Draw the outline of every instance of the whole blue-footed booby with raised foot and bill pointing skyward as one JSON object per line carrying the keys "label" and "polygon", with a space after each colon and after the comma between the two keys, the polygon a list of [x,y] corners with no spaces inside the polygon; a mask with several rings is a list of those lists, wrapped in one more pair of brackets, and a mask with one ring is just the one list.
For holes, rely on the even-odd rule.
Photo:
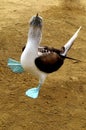
{"label": "whole blue-footed booby with raised foot and bill pointing skyward", "polygon": [[8,67],[10,67],[13,72],[18,73],[26,71],[38,78],[39,83],[37,87],[30,88],[25,92],[26,96],[35,99],[39,96],[40,89],[46,77],[50,73],[57,71],[64,64],[66,58],[77,60],[68,57],[67,52],[77,38],[81,27],[79,27],[61,49],[57,49],[54,47],[40,46],[42,40],[43,19],[38,13],[31,17],[29,26],[28,39],[26,45],[22,49],[20,62],[9,58]]}

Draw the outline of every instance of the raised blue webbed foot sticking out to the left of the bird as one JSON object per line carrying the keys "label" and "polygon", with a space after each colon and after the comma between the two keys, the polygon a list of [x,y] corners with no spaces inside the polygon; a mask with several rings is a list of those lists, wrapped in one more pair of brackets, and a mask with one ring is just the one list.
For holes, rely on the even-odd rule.
{"label": "raised blue webbed foot sticking out to the left of the bird", "polygon": [[22,73],[24,72],[23,67],[21,66],[20,62],[13,60],[11,58],[8,59],[7,66],[14,72],[14,73]]}

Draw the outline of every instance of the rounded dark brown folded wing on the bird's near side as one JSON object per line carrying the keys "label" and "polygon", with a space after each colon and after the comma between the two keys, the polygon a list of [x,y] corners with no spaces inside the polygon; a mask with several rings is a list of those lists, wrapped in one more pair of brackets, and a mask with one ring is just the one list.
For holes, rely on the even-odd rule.
{"label": "rounded dark brown folded wing on the bird's near side", "polygon": [[63,64],[64,58],[62,58],[56,52],[50,52],[42,54],[35,59],[37,68],[45,73],[52,73],[58,70]]}

